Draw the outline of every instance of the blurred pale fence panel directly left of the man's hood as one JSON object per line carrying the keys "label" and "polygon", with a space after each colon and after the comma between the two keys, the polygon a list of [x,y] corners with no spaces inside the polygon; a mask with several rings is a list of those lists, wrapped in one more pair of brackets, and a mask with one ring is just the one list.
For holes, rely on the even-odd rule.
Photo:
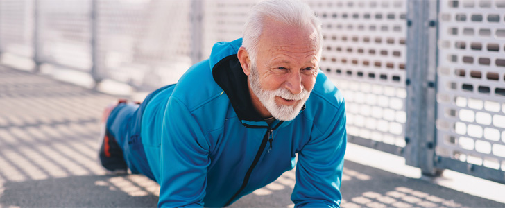
{"label": "blurred pale fence panel directly left of the man's hood", "polygon": [[190,1],[98,1],[97,66],[114,80],[153,89],[191,66]]}

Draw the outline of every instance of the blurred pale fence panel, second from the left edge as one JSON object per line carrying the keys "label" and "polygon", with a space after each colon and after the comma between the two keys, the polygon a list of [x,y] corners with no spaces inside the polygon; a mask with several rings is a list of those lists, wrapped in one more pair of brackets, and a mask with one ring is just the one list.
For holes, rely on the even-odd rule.
{"label": "blurred pale fence panel, second from the left edge", "polygon": [[92,66],[91,0],[37,0],[40,62],[83,71]]}

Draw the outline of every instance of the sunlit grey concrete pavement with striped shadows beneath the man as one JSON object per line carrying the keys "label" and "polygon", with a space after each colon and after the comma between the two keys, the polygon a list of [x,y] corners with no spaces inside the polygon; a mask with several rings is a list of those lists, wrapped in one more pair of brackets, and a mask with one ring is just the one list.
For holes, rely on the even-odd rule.
{"label": "sunlit grey concrete pavement with striped shadows beneath the man", "polygon": [[[117,98],[0,67],[0,207],[155,207],[155,182],[96,162],[101,110]],[[294,180],[286,172],[231,207],[292,207]],[[505,207],[350,160],[341,190],[342,207]]]}

